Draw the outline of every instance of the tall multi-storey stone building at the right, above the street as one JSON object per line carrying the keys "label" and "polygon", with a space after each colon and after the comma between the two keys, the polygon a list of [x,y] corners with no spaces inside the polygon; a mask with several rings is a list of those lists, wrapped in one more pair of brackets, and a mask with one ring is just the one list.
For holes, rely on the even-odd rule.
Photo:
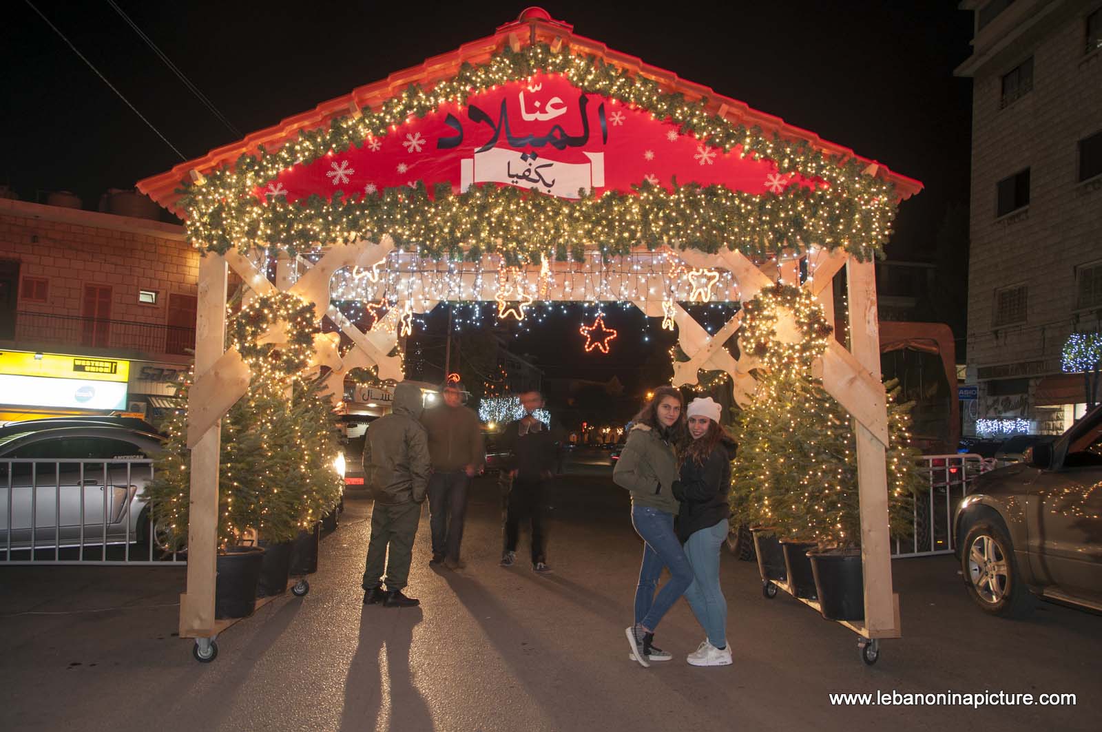
{"label": "tall multi-storey stone building at the right, above the street", "polygon": [[1080,416],[1072,333],[1102,327],[1102,2],[964,0],[975,34],[965,432]]}

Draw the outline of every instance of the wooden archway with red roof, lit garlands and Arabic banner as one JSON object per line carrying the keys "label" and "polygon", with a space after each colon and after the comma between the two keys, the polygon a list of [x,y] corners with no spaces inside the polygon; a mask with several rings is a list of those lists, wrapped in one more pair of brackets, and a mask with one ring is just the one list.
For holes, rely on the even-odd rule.
{"label": "wooden archway with red roof, lit garlands and Arabic banner", "polygon": [[[479,63],[483,65],[478,66]],[[532,71],[533,64],[542,69],[539,74]],[[605,69],[605,76],[593,80],[587,68]],[[579,80],[580,73],[586,74],[584,82]],[[562,86],[563,79],[574,86]],[[484,112],[480,114],[486,119],[468,112],[471,119],[491,128],[494,138],[479,149],[468,146],[473,157],[456,158],[454,174],[435,181],[429,175],[426,183],[451,182],[446,191],[437,185],[435,197],[424,193],[425,184],[420,189],[417,184],[407,187],[406,183],[391,180],[379,184],[380,189],[389,189],[378,193],[376,184],[368,182],[361,200],[353,205],[341,196],[332,201],[307,198],[306,194],[315,192],[318,185],[347,183],[354,169],[363,168],[365,163],[360,161],[367,160],[353,155],[368,155],[378,150],[381,144],[376,147],[376,143],[383,137],[400,141],[404,134],[401,144],[410,154],[421,152],[418,146],[424,146],[434,134],[440,150],[460,144],[453,146],[455,138],[447,136],[455,130],[462,140],[466,128],[456,112],[447,111],[455,108],[446,106],[452,104],[449,99],[477,98],[482,104],[476,94],[478,88],[483,88],[478,94],[499,94],[499,89],[507,88],[506,82],[523,85],[520,116],[525,120],[557,117],[562,112],[553,103],[563,104],[560,97],[547,101],[542,118],[531,112],[531,107],[526,112],[525,89],[534,94],[548,85],[551,89],[576,92],[576,86],[582,89],[580,99],[586,95],[606,95],[597,96],[596,100],[604,100],[598,110],[590,108],[587,112],[584,101],[579,105],[586,125],[586,140],[590,140],[586,114],[592,115],[594,128],[599,119],[605,142],[608,130],[616,129],[615,115],[623,118],[649,114],[650,120],[639,117],[641,125],[667,125],[670,129],[666,134],[671,143],[684,144],[689,153],[696,148],[693,158],[702,174],[719,174],[711,168],[713,159],[719,159],[728,166],[724,174],[731,175],[731,181],[705,181],[706,185],[682,187],[676,180],[669,185],[656,184],[648,175],[639,186],[617,187],[617,168],[612,159],[604,157],[612,153],[587,151],[584,160],[588,162],[581,158],[577,160],[583,162],[557,161],[560,165],[557,170],[563,171],[565,179],[588,176],[581,192],[554,190],[554,181],[559,179],[549,176],[545,181],[540,179],[547,187],[541,190],[545,195],[510,197],[509,186],[514,186],[515,193],[523,184],[509,166],[517,158],[508,161],[505,158],[527,150],[521,160],[530,163],[537,158],[534,149],[539,148],[544,155],[541,160],[545,160],[550,157],[547,146],[563,151],[573,144],[570,140],[581,138],[565,137],[560,126],[557,126],[559,132],[552,128],[552,132],[543,136],[509,137],[507,105],[503,100],[497,121]],[[421,86],[397,92],[409,84]],[[468,87],[475,90],[468,92]],[[433,92],[425,93],[424,88]],[[613,111],[606,110],[605,104]],[[624,106],[613,106],[617,104]],[[328,132],[320,131],[325,125]],[[436,125],[436,129],[419,125]],[[503,130],[508,146],[498,142]],[[428,137],[422,137],[422,131]],[[357,140],[363,143],[358,150],[347,152],[343,160],[339,154],[334,157],[334,151],[342,148],[347,151]],[[717,147],[709,148],[713,141]],[[260,143],[267,149],[255,155]],[[397,150],[397,146],[393,148]],[[484,153],[494,158],[479,158]],[[245,157],[230,166],[238,155]],[[652,157],[645,159],[649,162]],[[403,164],[399,163],[398,171],[406,175],[409,166]],[[768,182],[732,182],[743,180],[749,169],[758,173],[771,171]],[[520,180],[536,183],[531,173],[526,175]],[[191,186],[191,193],[183,200],[175,192],[182,179]],[[479,182],[490,185],[478,187],[475,184]],[[737,396],[739,384],[752,379],[748,372],[753,367],[745,360],[739,363],[724,348],[738,327],[739,315],[711,336],[680,303],[746,301],[778,279],[792,284],[802,280],[833,322],[832,283],[835,277],[844,277],[850,347],[832,340],[817,368],[821,368],[825,389],[856,423],[865,620],[847,625],[866,638],[900,635],[898,598],[892,591],[885,465],[888,429],[871,258],[886,239],[894,206],[920,190],[917,181],[892,173],[878,163],[734,99],[715,95],[711,89],[574,35],[568,24],[551,20],[539,9],[529,9],[517,22],[503,25],[488,39],[325,103],[238,144],[142,181],[139,187],[185,215],[192,241],[206,249],[199,266],[195,383],[188,407],[191,526],[187,591],[182,595],[180,612],[181,636],[209,638],[222,627],[214,617],[219,420],[245,392],[250,378],[240,355],[234,348],[226,348],[229,271],[255,293],[282,290],[301,295],[314,304],[317,320],[329,315],[350,338],[354,347],[344,355],[335,352],[332,342],[326,344],[325,338],[315,338],[313,365],[332,369],[329,381],[335,396],[343,391],[344,376],[357,366],[374,366],[380,378],[401,378],[401,362],[391,355],[401,317],[426,312],[440,300],[501,300],[503,297],[520,302],[634,302],[648,316],[677,324],[679,343],[689,359],[674,364],[676,383],[695,383],[700,369],[724,370],[735,383]],[[453,194],[453,189],[458,193]],[[606,193],[598,195],[602,189]],[[289,201],[289,192],[293,194],[296,190],[296,202]],[[845,205],[834,205],[838,202]],[[477,216],[464,214],[467,209],[477,212]],[[503,211],[514,213],[515,217],[521,214],[538,217],[542,224],[539,230],[548,232],[548,238],[537,243],[538,246],[528,241],[510,244],[509,237],[516,234],[507,227],[508,222],[498,219]],[[475,224],[483,226],[477,236],[471,233],[474,228],[464,229],[462,241],[430,246],[443,232],[451,234],[476,218]],[[489,228],[486,219],[494,222]],[[653,233],[655,223],[673,219],[679,222],[671,225],[679,236],[656,240],[662,236]],[[404,244],[399,246],[391,232],[400,235]],[[576,252],[560,250],[558,256],[550,256],[558,246],[555,237],[575,236],[584,239]],[[613,244],[601,237],[613,239]],[[302,249],[303,241],[320,258],[295,279],[285,262]],[[274,283],[248,256],[264,247],[282,252],[284,266],[279,268]],[[472,256],[474,248],[480,250],[479,256]],[[549,254],[544,256],[541,251]],[[634,257],[649,257],[650,267],[640,269],[637,262],[633,263]],[[587,279],[585,268],[592,265],[583,265],[583,258],[609,263],[608,271],[598,274],[598,284],[587,284],[593,278]],[[434,283],[431,277],[426,280],[423,274],[403,274],[439,269],[442,260],[452,262],[445,286]],[[800,276],[801,265],[810,277]],[[388,297],[389,309],[381,327],[376,324],[363,332],[331,305],[334,276],[380,270],[395,273],[400,288],[389,293],[381,290],[370,293],[372,298]],[[508,270],[511,283],[503,279],[504,270]],[[497,276],[485,277],[488,271],[496,271]],[[721,279],[724,284],[696,288],[689,279],[692,274],[687,272],[709,272],[712,284]]]}

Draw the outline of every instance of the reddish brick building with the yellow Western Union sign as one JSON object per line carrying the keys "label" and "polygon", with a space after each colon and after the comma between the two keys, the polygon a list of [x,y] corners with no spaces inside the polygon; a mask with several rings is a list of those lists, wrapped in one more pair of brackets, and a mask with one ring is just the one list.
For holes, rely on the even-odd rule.
{"label": "reddish brick building with the yellow Western Union sign", "polygon": [[198,259],[179,225],[0,198],[0,422],[172,408]]}

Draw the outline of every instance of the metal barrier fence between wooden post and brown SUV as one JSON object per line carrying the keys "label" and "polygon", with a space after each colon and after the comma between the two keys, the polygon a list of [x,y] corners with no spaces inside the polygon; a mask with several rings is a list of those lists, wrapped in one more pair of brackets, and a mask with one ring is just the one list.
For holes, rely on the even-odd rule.
{"label": "metal barrier fence between wooden post and brown SUV", "polygon": [[895,539],[893,557],[929,557],[954,550],[953,512],[972,489],[972,482],[995,469],[995,461],[975,454],[922,455],[919,459],[929,489],[915,502],[914,530]]}

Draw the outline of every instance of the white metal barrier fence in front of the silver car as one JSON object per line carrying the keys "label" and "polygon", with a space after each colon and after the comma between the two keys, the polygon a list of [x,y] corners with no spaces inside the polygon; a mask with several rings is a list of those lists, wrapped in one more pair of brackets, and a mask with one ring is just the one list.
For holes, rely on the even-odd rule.
{"label": "white metal barrier fence in front of the silver car", "polygon": [[145,508],[153,461],[0,460],[0,564],[183,563]]}

